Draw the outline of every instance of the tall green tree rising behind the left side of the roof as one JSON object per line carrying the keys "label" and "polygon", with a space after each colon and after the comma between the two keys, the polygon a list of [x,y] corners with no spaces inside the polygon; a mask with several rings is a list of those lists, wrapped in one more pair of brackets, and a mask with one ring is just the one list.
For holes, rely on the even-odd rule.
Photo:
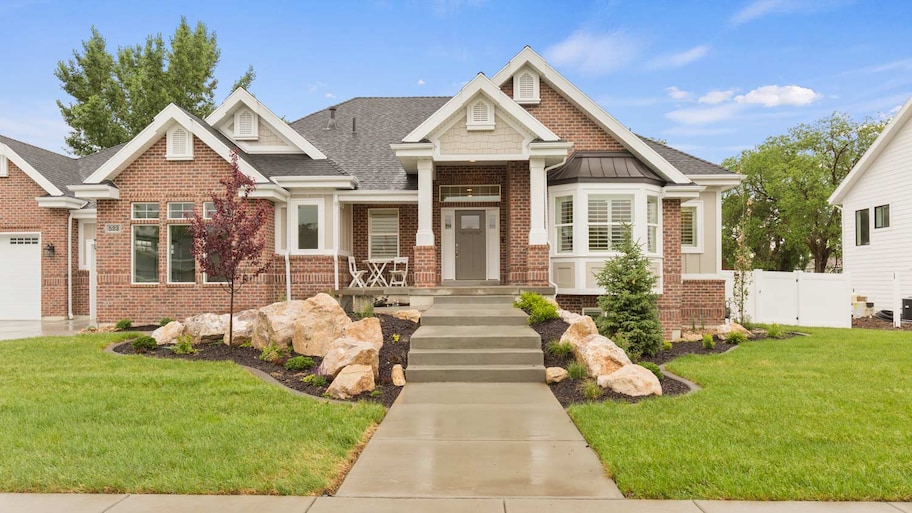
{"label": "tall green tree rising behind the left side of the roof", "polygon": [[[108,51],[104,37],[92,35],[74,50],[73,58],[57,63],[54,75],[72,101],[57,101],[72,131],[66,143],[72,153],[88,155],[129,141],[158,112],[175,103],[197,116],[214,105],[215,67],[220,50],[214,32],[202,22],[192,28],[181,18],[166,46],[161,34],[144,44]],[[248,87],[255,74],[247,69],[231,90]]]}

